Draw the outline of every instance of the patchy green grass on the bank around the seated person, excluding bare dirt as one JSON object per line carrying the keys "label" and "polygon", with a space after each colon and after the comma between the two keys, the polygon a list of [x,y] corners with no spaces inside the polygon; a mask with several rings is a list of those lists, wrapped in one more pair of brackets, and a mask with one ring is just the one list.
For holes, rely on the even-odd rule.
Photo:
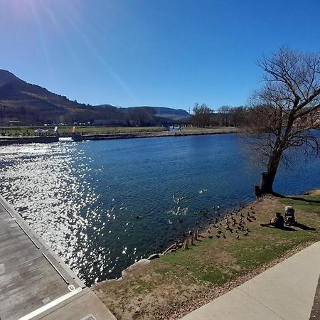
{"label": "patchy green grass on the bank around the seated person, excluding bare dirt", "polygon": [[[269,220],[284,206],[294,206],[299,223],[312,226],[316,231],[286,231],[262,228],[261,222]],[[267,216],[267,214],[269,216]],[[181,249],[154,262],[156,272],[169,277],[187,277],[193,281],[223,284],[240,274],[282,257],[285,252],[304,242],[320,240],[320,196],[304,196],[294,200],[279,198],[279,203],[270,213],[260,213],[260,219],[249,225],[250,236],[235,240],[227,235],[227,240],[214,238],[196,242],[195,247]]]}

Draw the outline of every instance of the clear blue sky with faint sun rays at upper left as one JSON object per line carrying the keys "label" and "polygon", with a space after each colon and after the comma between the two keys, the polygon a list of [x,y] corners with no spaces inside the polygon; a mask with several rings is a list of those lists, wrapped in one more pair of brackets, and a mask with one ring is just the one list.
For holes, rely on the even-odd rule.
{"label": "clear blue sky with faint sun rays at upper left", "polygon": [[320,51],[319,0],[0,0],[0,68],[92,105],[242,105],[282,45]]}

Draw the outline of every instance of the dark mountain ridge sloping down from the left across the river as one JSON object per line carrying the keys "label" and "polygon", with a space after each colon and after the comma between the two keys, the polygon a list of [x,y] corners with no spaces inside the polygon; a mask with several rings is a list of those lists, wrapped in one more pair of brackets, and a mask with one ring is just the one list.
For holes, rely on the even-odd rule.
{"label": "dark mountain ridge sloping down from the left across the river", "polygon": [[[73,123],[95,122],[96,119],[112,121],[119,124],[131,124],[130,116],[142,110],[150,117],[157,116],[169,119],[188,117],[185,110],[175,110],[166,107],[119,108],[112,105],[85,105],[76,100],[71,101],[64,95],[57,95],[39,85],[25,82],[13,73],[0,69],[0,122],[18,120],[21,124],[35,123]],[[154,111],[156,110],[156,111]],[[158,113],[157,113],[158,112]],[[103,121],[102,121],[103,122]],[[139,121],[140,122],[140,121]],[[151,123],[151,122],[150,122]]]}

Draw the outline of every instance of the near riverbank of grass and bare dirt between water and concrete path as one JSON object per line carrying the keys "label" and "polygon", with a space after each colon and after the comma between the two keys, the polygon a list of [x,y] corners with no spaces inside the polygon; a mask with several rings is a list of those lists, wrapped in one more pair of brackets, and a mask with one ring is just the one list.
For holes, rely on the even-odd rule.
{"label": "near riverbank of grass and bare dirt between water and concrete path", "polygon": [[[283,213],[288,205],[296,209],[300,228],[260,226],[275,212]],[[245,218],[249,233],[236,233],[238,224],[231,227],[231,233],[222,223],[220,238],[211,228],[187,250],[152,260],[120,281],[96,284],[95,293],[117,319],[178,319],[293,253],[294,248],[320,240],[320,191],[290,198],[262,198],[242,210],[245,217],[248,212],[255,217],[251,221]],[[239,222],[240,215],[234,217]],[[311,228],[315,230],[308,230]]]}

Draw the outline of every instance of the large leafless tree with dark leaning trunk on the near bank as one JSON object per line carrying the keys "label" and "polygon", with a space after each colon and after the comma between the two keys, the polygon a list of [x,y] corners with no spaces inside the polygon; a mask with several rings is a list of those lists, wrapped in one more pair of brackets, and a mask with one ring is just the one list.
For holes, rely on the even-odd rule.
{"label": "large leafless tree with dark leaning trunk on the near bank", "polygon": [[320,129],[320,54],[281,48],[258,65],[265,72],[264,85],[252,97],[247,127],[266,165],[255,189],[260,196],[273,193],[279,163],[288,162],[289,149],[319,155],[314,129]]}

